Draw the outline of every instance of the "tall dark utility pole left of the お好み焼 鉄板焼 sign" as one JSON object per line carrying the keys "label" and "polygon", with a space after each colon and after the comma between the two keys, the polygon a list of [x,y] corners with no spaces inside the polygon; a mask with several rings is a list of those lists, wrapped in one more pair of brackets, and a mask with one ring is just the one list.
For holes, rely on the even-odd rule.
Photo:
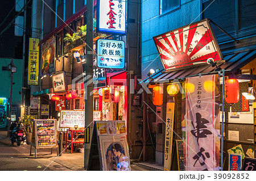
{"label": "tall dark utility pole left of the \u304a\u597d\u307f\u713c \u9244\u677f\u713c sign", "polygon": [[[86,99],[85,99],[85,128],[90,128],[93,122],[93,0],[87,1],[86,11]],[[89,75],[89,76],[88,76]],[[93,125],[93,124],[92,124]],[[92,130],[92,129],[91,129]],[[91,136],[90,136],[91,137]],[[84,144],[84,167],[87,169],[89,160],[90,144]]]}

